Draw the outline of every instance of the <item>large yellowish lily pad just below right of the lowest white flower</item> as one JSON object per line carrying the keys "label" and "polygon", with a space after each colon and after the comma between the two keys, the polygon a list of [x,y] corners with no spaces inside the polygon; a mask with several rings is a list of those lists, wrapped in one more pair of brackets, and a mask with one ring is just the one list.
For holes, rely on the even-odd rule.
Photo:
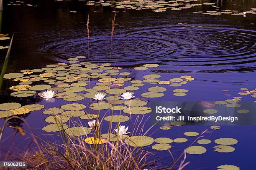
{"label": "large yellowish lily pad just below right of the lowest white flower", "polygon": [[125,139],[125,143],[133,147],[148,146],[151,145],[153,142],[154,139],[148,136],[132,136]]}

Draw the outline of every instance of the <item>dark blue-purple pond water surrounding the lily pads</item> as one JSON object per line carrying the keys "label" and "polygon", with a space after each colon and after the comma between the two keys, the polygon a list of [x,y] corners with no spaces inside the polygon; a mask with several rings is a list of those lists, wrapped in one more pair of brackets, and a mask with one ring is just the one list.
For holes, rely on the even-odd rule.
{"label": "dark blue-purple pond water surrounding the lily pads", "polygon": [[[217,1],[196,1],[191,4],[203,2],[215,3]],[[182,10],[166,9],[165,12],[160,13],[151,9],[116,9],[118,13],[112,41],[111,19],[114,18],[115,7],[85,5],[85,1],[76,0],[60,2],[28,0],[25,3],[36,5],[36,7],[26,4],[8,5],[12,4],[10,2],[4,4],[2,33],[14,34],[7,73],[40,69],[59,62],[72,64],[67,59],[86,56],[79,61],[90,61],[97,65],[111,63],[113,67],[120,67],[121,69],[116,68],[120,72],[130,72],[131,74],[127,77],[131,77],[132,80],[143,80],[143,75],[148,74],[161,75],[158,78],[160,81],[179,78],[183,75],[195,78],[183,84],[182,87],[143,82],[145,85],[133,91],[136,97],[141,97],[141,93],[148,92],[149,87],[156,85],[167,89],[163,92],[163,97],[142,97],[143,100],[150,100],[147,107],[150,107],[151,101],[224,101],[236,96],[243,97],[242,101],[255,101],[251,95],[238,95],[238,92],[241,92],[241,88],[254,90],[256,85],[256,15],[248,13],[246,17],[243,17],[243,15],[231,14],[193,13],[222,10],[241,13],[256,7],[253,0],[223,0],[218,1],[215,4],[216,7],[198,5]],[[70,11],[76,11],[76,13]],[[89,41],[86,25],[88,13],[90,13]],[[6,41],[5,45],[8,43]],[[0,68],[3,66],[6,51],[0,51]],[[148,63],[155,63],[159,66],[149,67],[147,70],[134,69],[134,67]],[[90,86],[94,87],[96,82],[97,79],[92,79]],[[36,84],[46,83],[44,81],[33,82],[33,85]],[[45,102],[38,95],[12,97],[10,93],[13,91],[8,88],[14,85],[18,83],[4,80],[0,103],[42,104],[44,109],[71,103],[62,99],[57,99],[52,103]],[[124,83],[124,87],[130,85],[130,82]],[[85,87],[90,88],[89,85]],[[187,89],[189,92],[186,96],[175,96],[173,90],[177,88]],[[76,103],[82,103],[88,107],[89,101],[86,98]],[[36,135],[46,133],[41,129],[49,124],[44,121],[48,116],[43,114],[42,110],[22,115]],[[148,116],[150,114],[145,115],[146,118]],[[0,119],[0,127],[4,120],[5,118]],[[87,126],[87,120],[81,121],[84,126]],[[130,123],[128,121],[122,124],[129,125]],[[25,130],[28,130],[24,122],[17,119],[10,120],[8,125],[23,126]],[[105,122],[104,126],[107,127],[108,123]],[[144,129],[150,126],[150,121],[148,121]],[[177,126],[170,130],[161,130],[159,127],[152,128],[148,134],[153,133],[150,136],[154,139],[159,137],[188,139],[186,143],[171,144],[172,152],[176,156],[196,139],[196,137],[183,135],[184,132],[201,133],[209,129],[204,139],[209,139],[212,143],[203,145],[207,152],[203,155],[187,154],[187,161],[190,163],[184,169],[213,170],[219,165],[228,164],[248,170],[256,165],[253,160],[253,152],[256,151],[255,126],[221,126],[220,130],[212,130],[210,126]],[[154,133],[156,130],[157,132]],[[10,147],[10,140],[20,147],[28,144],[27,140],[24,141],[27,136],[21,136],[19,133],[13,135],[13,132],[13,128],[6,129],[4,138],[8,137],[8,140],[1,142],[0,145],[3,148]],[[218,138],[235,138],[238,140],[238,143],[233,145],[236,150],[231,153],[215,152],[212,147],[216,145],[214,140]],[[20,141],[23,142],[20,143]],[[150,151],[156,154],[156,157],[165,155],[164,165],[172,163],[168,151]]]}

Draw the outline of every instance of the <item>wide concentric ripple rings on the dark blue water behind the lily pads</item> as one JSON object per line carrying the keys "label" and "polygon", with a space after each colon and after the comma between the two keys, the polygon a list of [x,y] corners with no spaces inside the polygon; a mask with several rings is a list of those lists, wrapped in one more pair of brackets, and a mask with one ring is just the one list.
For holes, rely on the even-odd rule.
{"label": "wide concentric ripple rings on the dark blue water behind the lily pads", "polygon": [[[223,25],[164,25],[116,30],[112,45],[109,35],[92,36],[89,56],[92,62],[107,60],[125,65],[160,62],[172,65],[174,70],[182,66],[182,70],[195,72],[232,72],[244,68],[253,71],[255,42],[254,30]],[[88,56],[87,37],[57,41],[46,45],[42,51],[45,50],[63,59]]]}

